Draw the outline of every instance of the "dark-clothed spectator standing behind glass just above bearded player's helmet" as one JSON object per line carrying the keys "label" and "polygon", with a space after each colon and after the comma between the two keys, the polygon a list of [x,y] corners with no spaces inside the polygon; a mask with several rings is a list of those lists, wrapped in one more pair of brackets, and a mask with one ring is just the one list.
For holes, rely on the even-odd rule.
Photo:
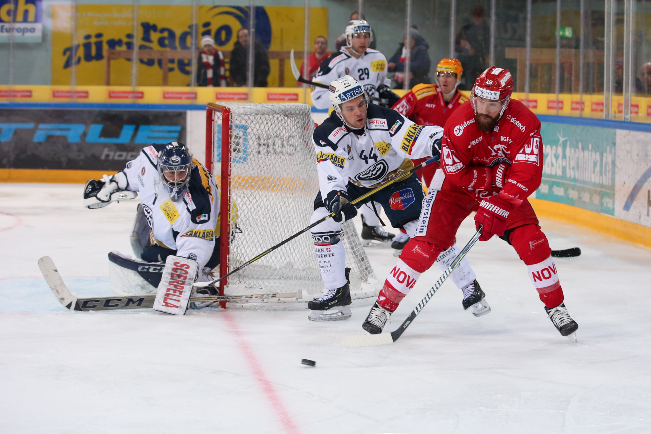
{"label": "dark-clothed spectator standing behind glass just above bearded player's helmet", "polygon": [[456,58],[464,65],[464,83],[460,88],[470,90],[475,79],[489,66],[487,61],[490,30],[484,18],[484,8],[473,9],[472,21],[464,24],[454,38]]}

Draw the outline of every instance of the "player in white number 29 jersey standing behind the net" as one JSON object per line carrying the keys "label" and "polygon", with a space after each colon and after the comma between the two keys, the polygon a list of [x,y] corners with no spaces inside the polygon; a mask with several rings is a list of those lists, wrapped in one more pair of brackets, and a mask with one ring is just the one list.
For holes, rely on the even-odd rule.
{"label": "player in white number 29 jersey standing behind the net", "polygon": [[[350,20],[344,33],[346,46],[322,62],[314,81],[327,85],[349,74],[361,83],[370,98],[379,98],[386,102],[386,107],[391,107],[400,97],[389,87],[391,80],[387,78],[387,58],[380,51],[368,48],[373,40],[370,25],[365,20]],[[319,109],[328,109],[331,107],[328,94],[327,88],[316,87],[312,90],[312,102]],[[379,208],[378,204],[372,202],[360,208],[363,245],[374,245],[374,241],[390,244],[393,240],[393,234],[381,226],[376,213]]]}

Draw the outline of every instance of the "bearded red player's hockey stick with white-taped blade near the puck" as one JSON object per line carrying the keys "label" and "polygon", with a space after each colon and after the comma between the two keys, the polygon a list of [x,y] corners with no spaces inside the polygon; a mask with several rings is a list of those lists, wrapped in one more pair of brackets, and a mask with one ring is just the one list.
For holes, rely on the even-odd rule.
{"label": "bearded red player's hockey stick with white-taped blade near the puck", "polygon": [[352,336],[346,336],[342,340],[342,344],[344,347],[348,348],[360,348],[360,347],[373,347],[373,346],[378,346],[378,345],[386,345],[386,344],[393,344],[393,342],[396,342],[398,338],[402,335],[402,333],[409,327],[409,324],[413,323],[413,320],[416,318],[416,316],[421,312],[422,308],[427,304],[428,301],[432,298],[432,295],[434,295],[435,292],[441,288],[441,285],[443,282],[445,282],[445,279],[452,274],[452,270],[454,270],[461,260],[464,258],[465,254],[470,250],[471,247],[477,242],[479,237],[482,234],[482,227],[479,226],[479,230],[477,233],[468,241],[468,243],[465,245],[464,249],[454,258],[454,261],[452,264],[450,264],[449,267],[443,271],[443,275],[439,277],[439,280],[436,281],[434,286],[432,286],[432,289],[430,289],[424,297],[422,297],[421,303],[418,304],[412,311],[411,314],[405,319],[400,327],[398,327],[395,331],[391,333],[381,333],[381,334],[355,334]]}

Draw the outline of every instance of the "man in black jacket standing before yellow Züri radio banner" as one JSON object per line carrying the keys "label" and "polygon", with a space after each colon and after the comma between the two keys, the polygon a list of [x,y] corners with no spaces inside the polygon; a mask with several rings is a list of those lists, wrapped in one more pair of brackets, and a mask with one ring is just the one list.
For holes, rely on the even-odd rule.
{"label": "man in black jacket standing before yellow Z\u00fcri radio banner", "polygon": [[[230,77],[236,86],[247,85],[247,63],[249,60],[249,29],[238,31],[238,40],[230,52]],[[267,77],[271,71],[267,49],[262,42],[256,40],[255,45],[255,71],[253,74],[253,86],[267,87]]]}

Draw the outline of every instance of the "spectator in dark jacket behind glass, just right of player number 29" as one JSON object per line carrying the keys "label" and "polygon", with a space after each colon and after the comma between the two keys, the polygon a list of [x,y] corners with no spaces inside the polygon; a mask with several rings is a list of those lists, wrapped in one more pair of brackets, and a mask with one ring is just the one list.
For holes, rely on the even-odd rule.
{"label": "spectator in dark jacket behind glass, just right of player number 29", "polygon": [[[430,74],[430,55],[427,49],[429,44],[422,38],[421,34],[416,29],[409,29],[409,87],[414,87],[419,83],[432,83],[432,79],[428,76]],[[407,59],[407,33],[402,37],[402,44],[398,46],[396,52],[393,53],[391,59],[387,62],[387,70],[395,72],[393,81],[395,82],[394,88],[403,88],[406,80],[405,62]]]}

